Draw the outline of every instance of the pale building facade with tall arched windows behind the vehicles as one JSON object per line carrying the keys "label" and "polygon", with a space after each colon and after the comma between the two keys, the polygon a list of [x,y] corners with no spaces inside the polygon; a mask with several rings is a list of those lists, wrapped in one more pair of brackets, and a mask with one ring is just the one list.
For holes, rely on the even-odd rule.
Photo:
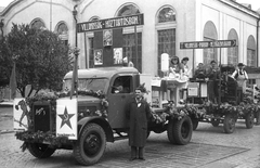
{"label": "pale building facade with tall arched windows behind the vehicles", "polygon": [[[143,13],[144,25],[136,26],[136,34],[134,27],[122,29],[122,55],[131,57],[143,74],[161,74],[162,53],[190,57],[190,67],[212,60],[248,66],[260,63],[260,15],[233,0],[16,0],[0,13],[3,35],[11,30],[12,23],[30,24],[57,33],[74,47],[74,10],[78,12],[78,23]],[[94,33],[77,36],[79,67],[94,67]],[[180,49],[180,42],[233,39],[237,41],[234,48]]]}

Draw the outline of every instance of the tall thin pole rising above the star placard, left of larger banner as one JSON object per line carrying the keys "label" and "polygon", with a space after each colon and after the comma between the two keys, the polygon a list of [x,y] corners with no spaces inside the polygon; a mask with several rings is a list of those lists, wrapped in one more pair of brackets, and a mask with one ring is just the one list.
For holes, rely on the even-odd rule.
{"label": "tall thin pole rising above the star placard, left of larger banner", "polygon": [[78,98],[78,55],[79,55],[79,50],[78,50],[78,35],[77,35],[77,4],[74,5],[73,10],[73,16],[75,20],[75,49],[74,49],[74,55],[75,55],[75,61],[74,61],[74,72],[73,72],[73,81],[72,81],[72,89],[70,89],[70,99],[73,98],[74,92],[76,91],[76,96]]}

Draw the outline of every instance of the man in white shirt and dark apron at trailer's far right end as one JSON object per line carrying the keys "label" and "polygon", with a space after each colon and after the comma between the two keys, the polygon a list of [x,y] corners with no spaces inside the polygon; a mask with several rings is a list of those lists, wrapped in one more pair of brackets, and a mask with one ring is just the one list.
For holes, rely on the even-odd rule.
{"label": "man in white shirt and dark apron at trailer's far right end", "polygon": [[237,69],[232,74],[232,77],[236,79],[238,87],[242,87],[243,93],[246,92],[246,80],[248,80],[248,75],[246,73],[245,65],[243,63],[237,64]]}

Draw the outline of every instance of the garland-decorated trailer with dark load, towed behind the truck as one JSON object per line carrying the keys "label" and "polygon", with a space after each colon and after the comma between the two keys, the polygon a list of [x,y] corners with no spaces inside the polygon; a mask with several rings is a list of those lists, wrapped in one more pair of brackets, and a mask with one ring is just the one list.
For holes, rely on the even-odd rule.
{"label": "garland-decorated trailer with dark load, towed behind the truck", "polygon": [[[237,119],[245,119],[246,128],[253,127],[255,118],[259,117],[259,103],[253,94],[256,88],[248,89],[250,92],[243,93],[242,88],[237,86],[236,80],[231,77],[235,70],[234,66],[222,65],[220,67],[221,76],[218,82],[218,102],[208,101],[207,77],[191,80],[187,88],[188,104],[193,104],[196,111],[203,111],[202,115],[191,116],[193,129],[198,122],[210,122],[213,127],[223,124],[225,133],[233,133]],[[194,87],[196,86],[196,87]],[[195,90],[195,91],[194,91]],[[191,92],[188,92],[191,91]]]}

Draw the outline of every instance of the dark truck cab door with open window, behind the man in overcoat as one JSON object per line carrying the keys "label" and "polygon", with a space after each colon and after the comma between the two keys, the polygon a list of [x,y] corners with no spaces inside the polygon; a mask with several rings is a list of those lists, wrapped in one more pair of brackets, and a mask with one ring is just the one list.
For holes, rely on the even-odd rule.
{"label": "dark truck cab door with open window, behind the man in overcoat", "polygon": [[128,127],[126,103],[133,96],[133,75],[119,75],[112,79],[108,89],[108,122],[113,129]]}

